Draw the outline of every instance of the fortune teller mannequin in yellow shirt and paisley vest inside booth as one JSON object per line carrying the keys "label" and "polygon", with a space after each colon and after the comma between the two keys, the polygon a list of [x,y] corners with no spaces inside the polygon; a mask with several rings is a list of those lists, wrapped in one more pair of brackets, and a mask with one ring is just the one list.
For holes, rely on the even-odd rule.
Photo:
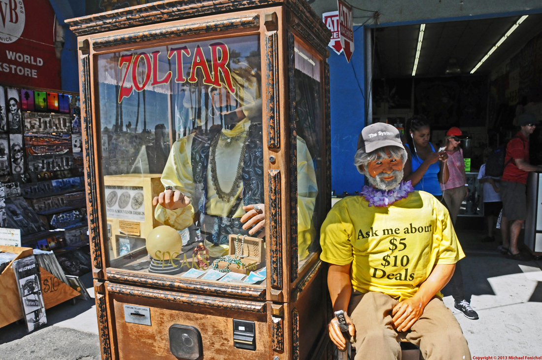
{"label": "fortune teller mannequin in yellow shirt and paisley vest inside booth", "polygon": [[[156,219],[177,230],[189,229],[190,241],[203,242],[212,258],[228,251],[228,236],[260,236],[265,224],[263,186],[262,102],[246,79],[236,82],[236,95],[225,87],[207,92],[212,107],[199,101],[197,131],[177,140],[162,173],[166,190],[154,198]],[[242,94],[242,96],[240,95]],[[205,95],[207,97],[207,95]],[[186,97],[185,97],[186,99]],[[186,102],[184,101],[185,106]],[[198,101],[192,103],[198,104]],[[195,118],[195,117],[193,117]],[[317,185],[314,165],[298,137],[298,228],[300,258],[314,236],[312,214]]]}

